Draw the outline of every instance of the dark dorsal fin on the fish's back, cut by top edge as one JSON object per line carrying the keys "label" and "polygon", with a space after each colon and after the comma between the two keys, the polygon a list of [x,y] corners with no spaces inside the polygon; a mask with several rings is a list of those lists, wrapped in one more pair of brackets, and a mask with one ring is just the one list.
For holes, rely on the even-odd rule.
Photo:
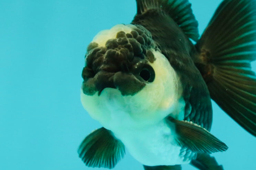
{"label": "dark dorsal fin on the fish's back, cut by top edge", "polygon": [[136,2],[137,15],[150,9],[161,9],[180,26],[186,36],[194,41],[198,40],[198,22],[188,0],[136,0]]}

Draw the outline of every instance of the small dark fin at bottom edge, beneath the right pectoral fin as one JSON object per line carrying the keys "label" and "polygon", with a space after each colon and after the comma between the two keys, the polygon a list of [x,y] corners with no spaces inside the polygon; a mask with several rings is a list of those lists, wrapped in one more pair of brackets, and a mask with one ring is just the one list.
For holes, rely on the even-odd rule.
{"label": "small dark fin at bottom edge, beneath the right pectoral fin", "polygon": [[198,153],[196,159],[192,160],[190,164],[200,170],[224,170],[214,157],[205,153]]}

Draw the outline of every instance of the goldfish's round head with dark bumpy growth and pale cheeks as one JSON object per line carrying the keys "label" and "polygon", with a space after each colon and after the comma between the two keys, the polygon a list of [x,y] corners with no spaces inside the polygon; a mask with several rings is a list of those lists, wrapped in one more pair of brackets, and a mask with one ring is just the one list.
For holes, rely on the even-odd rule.
{"label": "goldfish's round head with dark bumpy growth and pale cheeks", "polygon": [[156,123],[180,96],[177,74],[138,25],[98,33],[87,48],[82,77],[83,107],[107,129]]}

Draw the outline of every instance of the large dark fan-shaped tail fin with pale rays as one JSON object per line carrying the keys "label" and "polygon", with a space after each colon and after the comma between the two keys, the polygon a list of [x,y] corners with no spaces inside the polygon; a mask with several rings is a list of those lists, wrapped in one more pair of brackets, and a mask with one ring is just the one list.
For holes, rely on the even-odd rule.
{"label": "large dark fan-shaped tail fin with pale rays", "polygon": [[256,136],[256,0],[224,0],[195,45],[211,98]]}

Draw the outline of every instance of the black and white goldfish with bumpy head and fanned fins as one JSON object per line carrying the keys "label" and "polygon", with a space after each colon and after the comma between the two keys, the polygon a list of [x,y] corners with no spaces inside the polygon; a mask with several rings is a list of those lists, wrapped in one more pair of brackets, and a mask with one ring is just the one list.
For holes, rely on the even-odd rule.
{"label": "black and white goldfish with bumpy head and fanned fins", "polygon": [[125,149],[145,170],[222,170],[211,99],[256,136],[256,0],[223,0],[199,35],[188,0],[136,0],[130,24],[99,32],[82,71],[81,102],[103,127],[78,155],[112,169]]}

